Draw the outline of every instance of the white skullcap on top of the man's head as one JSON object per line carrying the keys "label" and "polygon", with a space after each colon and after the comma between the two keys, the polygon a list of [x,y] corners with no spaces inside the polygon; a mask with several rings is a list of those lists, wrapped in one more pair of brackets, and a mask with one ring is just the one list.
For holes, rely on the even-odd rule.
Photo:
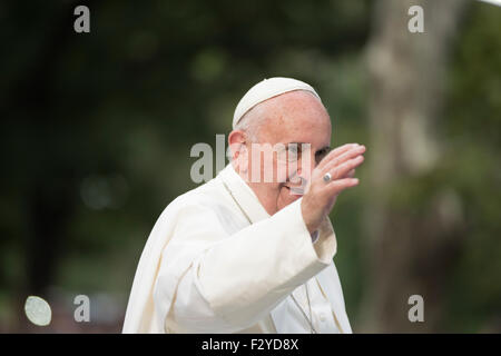
{"label": "white skullcap on top of the man's head", "polygon": [[320,99],[315,89],[301,80],[282,77],[265,79],[252,87],[238,102],[233,115],[233,128],[235,129],[242,117],[259,102],[293,90],[306,90]]}

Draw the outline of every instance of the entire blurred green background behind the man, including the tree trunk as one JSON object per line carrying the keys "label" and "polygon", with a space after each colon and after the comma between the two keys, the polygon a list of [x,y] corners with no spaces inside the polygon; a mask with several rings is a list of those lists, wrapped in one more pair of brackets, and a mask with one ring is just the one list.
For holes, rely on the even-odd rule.
{"label": "entire blurred green background behind the man, including the tree trunk", "polygon": [[[196,187],[191,146],[215,148],[276,76],[315,87],[333,146],[367,146],[331,216],[354,332],[501,332],[500,7],[2,1],[0,23],[0,332],[120,332],[150,229]],[[73,320],[80,294],[90,323]],[[29,295],[50,326],[27,320]]]}

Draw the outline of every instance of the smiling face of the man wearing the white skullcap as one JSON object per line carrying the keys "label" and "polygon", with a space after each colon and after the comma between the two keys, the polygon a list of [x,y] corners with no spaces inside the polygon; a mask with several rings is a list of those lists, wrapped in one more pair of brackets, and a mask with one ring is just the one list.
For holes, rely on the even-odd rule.
{"label": "smiling face of the man wearing the white skullcap", "polygon": [[332,128],[325,108],[308,92],[287,92],[263,105],[268,119],[254,142],[259,145],[246,144],[247,181],[273,215],[301,198],[312,170],[330,150]]}

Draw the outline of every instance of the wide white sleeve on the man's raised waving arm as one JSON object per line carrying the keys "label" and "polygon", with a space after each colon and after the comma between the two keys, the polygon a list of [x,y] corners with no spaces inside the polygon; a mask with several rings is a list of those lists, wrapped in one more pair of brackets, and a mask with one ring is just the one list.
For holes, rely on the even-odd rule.
{"label": "wide white sleeve on the man's raised waving arm", "polygon": [[[313,244],[301,201],[230,236],[214,222],[217,217],[209,208],[193,207],[195,221],[191,214],[186,221],[179,218],[176,238],[169,243],[174,248],[170,257],[164,256],[154,293],[166,328],[176,333],[245,329],[327,267],[336,250],[332,225],[324,221]],[[179,269],[181,260],[186,268]],[[170,308],[161,308],[163,296],[173,293]]]}

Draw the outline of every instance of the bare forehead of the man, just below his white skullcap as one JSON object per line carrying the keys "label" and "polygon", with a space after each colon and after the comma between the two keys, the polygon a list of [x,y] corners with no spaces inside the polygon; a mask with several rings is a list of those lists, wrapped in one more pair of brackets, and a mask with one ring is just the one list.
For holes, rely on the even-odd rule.
{"label": "bare forehead of the man, just below his white skullcap", "polygon": [[310,142],[318,148],[331,142],[331,118],[310,92],[292,91],[272,98],[262,112],[268,118],[261,130],[263,141]]}

